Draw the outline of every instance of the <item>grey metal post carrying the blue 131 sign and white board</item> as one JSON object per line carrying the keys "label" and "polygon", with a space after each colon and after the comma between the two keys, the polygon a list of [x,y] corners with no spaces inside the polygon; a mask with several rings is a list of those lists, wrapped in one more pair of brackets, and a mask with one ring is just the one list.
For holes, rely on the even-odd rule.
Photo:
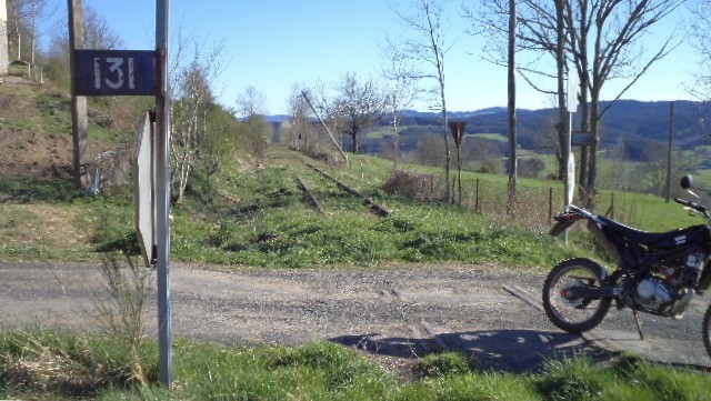
{"label": "grey metal post carrying the blue 131 sign and white board", "polygon": [[[69,0],[69,12],[72,16],[73,1],[78,0]],[[77,94],[156,97],[154,123],[149,117],[143,120],[137,144],[139,178],[136,188],[140,193],[137,193],[136,214],[143,258],[147,265],[154,265],[158,270],[159,379],[166,385],[170,385],[172,370],[168,10],[168,0],[156,1],[154,51],[72,49],[73,98],[80,98]],[[78,20],[71,21],[81,26],[81,18]]]}

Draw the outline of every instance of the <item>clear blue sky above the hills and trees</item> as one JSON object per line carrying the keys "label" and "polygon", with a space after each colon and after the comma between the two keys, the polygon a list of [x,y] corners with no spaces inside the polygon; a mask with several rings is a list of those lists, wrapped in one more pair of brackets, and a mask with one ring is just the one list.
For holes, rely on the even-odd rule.
{"label": "clear blue sky above the hills and trees", "polygon": [[[57,1],[66,12],[67,1]],[[469,1],[472,3],[474,0]],[[124,41],[128,49],[154,47],[156,2],[147,0],[83,0],[97,10]],[[467,2],[467,1],[465,1]],[[171,0],[170,27],[183,36],[196,36],[208,43],[224,43],[224,72],[214,83],[216,94],[226,107],[247,87],[254,87],[267,98],[268,113],[286,113],[287,100],[294,84],[309,87],[318,81],[337,83],[344,73],[380,77],[385,37],[402,38],[408,30],[393,12],[405,0]],[[481,39],[461,33],[467,21],[459,18],[459,1],[450,2],[447,17],[448,41],[454,42],[445,56],[448,109],[478,110],[507,104],[507,71],[477,56]],[[407,9],[407,8],[404,8]],[[674,16],[645,47],[672,29]],[[659,33],[659,34],[658,34]],[[172,34],[172,33],[171,33]],[[654,64],[624,99],[690,99],[683,84],[692,81],[697,59],[688,43]],[[603,100],[619,90],[613,82],[603,91]],[[518,82],[519,108],[551,106],[550,97]],[[427,104],[415,104],[427,110]]]}

